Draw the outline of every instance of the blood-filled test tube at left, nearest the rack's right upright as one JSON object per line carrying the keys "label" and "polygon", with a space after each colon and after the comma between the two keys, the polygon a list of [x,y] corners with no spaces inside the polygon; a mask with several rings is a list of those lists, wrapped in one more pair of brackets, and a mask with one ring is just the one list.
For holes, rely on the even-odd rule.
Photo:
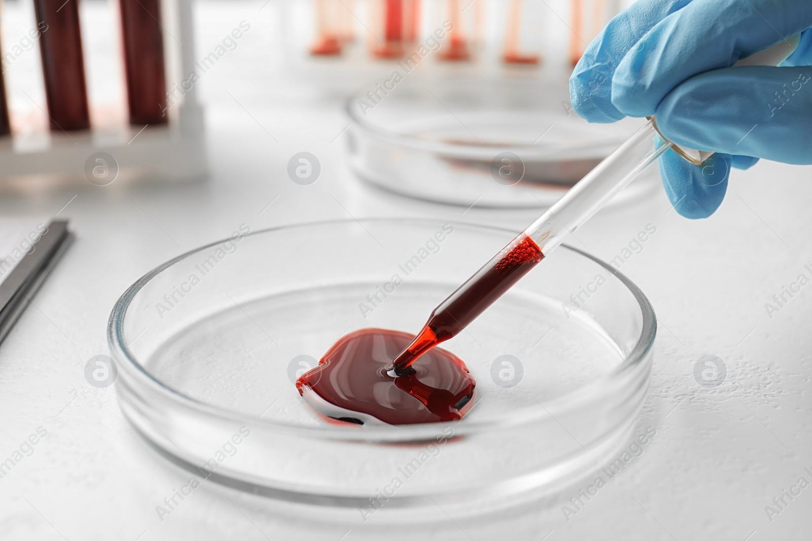
{"label": "blood-filled test tube at left, nearest the rack's right upright", "polygon": [[160,0],[120,0],[130,123],[164,124],[166,75]]}

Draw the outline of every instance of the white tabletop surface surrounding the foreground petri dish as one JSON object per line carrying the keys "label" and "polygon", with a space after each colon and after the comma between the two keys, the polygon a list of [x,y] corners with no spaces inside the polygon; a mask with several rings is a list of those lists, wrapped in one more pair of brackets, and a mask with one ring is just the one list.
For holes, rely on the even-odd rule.
{"label": "white tabletop surface surrounding the foreground petri dish", "polygon": [[[223,21],[205,27],[199,49],[261,3],[235,6],[231,13],[201,4],[199,15]],[[34,306],[0,346],[0,461],[37,427],[47,430],[34,453],[0,479],[0,539],[408,539],[407,528],[377,517],[363,523],[360,515],[332,516],[212,483],[162,521],[156,505],[188,474],[133,432],[113,387],[96,389],[84,380],[87,360],[109,354],[106,320],[123,290],[242,222],[258,230],[349,214],[459,220],[464,211],[388,195],[353,178],[343,135],[333,141],[348,123],[338,102],[279,90],[286,88],[284,75],[270,66],[244,69],[266,45],[261,30],[270,21],[257,20],[235,61],[201,83],[208,180],[89,184],[0,198],[2,217],[21,218],[54,215],[70,200],[60,217],[76,233]],[[306,187],[285,173],[288,158],[303,150],[322,164],[321,178]],[[586,250],[611,258],[646,224],[657,227],[622,268],[659,318],[651,387],[635,428],[655,427],[657,436],[569,521],[560,502],[537,504],[494,516],[443,517],[417,528],[414,539],[809,539],[812,487],[772,521],[765,506],[800,477],[812,481],[804,471],[812,470],[812,286],[772,317],[765,303],[799,274],[810,277],[804,268],[812,264],[810,173],[810,167],[762,162],[733,172],[727,198],[708,220],[669,212],[657,191],[599,213],[579,230]],[[476,206],[464,217],[517,230],[532,218],[533,212]],[[705,354],[728,367],[716,389],[693,378],[693,365]]]}

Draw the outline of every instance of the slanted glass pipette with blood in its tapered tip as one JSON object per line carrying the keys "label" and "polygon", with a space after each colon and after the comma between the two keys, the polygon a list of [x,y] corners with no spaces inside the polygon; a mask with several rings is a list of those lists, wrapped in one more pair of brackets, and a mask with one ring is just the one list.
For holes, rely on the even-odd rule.
{"label": "slanted glass pipette with blood in its tapered tip", "polygon": [[[734,66],[777,66],[792,54],[799,39],[800,36],[793,36],[736,62]],[[550,255],[568,234],[593,217],[670,148],[695,165],[702,164],[713,154],[673,144],[659,133],[656,118],[649,118],[645,126],[439,303],[421,332],[392,362],[389,374],[408,374],[409,366],[421,354],[460,333],[539,261]]]}

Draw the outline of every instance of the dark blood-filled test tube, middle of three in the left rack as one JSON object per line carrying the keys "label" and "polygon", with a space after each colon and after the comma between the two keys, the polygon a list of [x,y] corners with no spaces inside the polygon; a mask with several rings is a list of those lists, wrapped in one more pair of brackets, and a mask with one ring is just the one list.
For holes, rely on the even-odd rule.
{"label": "dark blood-filled test tube, middle of three in the left rack", "polygon": [[86,130],[90,116],[78,0],[34,0],[34,10],[37,22],[48,28],[39,41],[50,129]]}

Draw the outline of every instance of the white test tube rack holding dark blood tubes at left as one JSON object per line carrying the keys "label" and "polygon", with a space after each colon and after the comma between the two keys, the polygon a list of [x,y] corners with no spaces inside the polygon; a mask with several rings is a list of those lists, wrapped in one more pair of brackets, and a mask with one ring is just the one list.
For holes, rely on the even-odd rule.
{"label": "white test tube rack holding dark blood tubes at left", "polygon": [[[115,163],[105,165],[117,170],[114,178],[117,185],[205,175],[204,110],[197,100],[197,88],[193,85],[179,88],[181,73],[194,70],[192,0],[162,2],[162,13],[169,15],[164,22],[180,42],[177,50],[167,48],[164,53],[176,56],[172,62],[167,59],[167,67],[179,67],[178,73],[166,70],[167,92],[180,93],[179,97],[174,96],[177,105],[166,111],[168,122],[156,126],[121,125],[114,129],[90,126],[87,130],[68,131],[54,129],[52,123],[49,132],[2,135],[0,191],[31,192],[87,185],[87,165],[98,152],[113,157]],[[165,43],[175,39],[168,38],[166,28],[163,32]]]}

